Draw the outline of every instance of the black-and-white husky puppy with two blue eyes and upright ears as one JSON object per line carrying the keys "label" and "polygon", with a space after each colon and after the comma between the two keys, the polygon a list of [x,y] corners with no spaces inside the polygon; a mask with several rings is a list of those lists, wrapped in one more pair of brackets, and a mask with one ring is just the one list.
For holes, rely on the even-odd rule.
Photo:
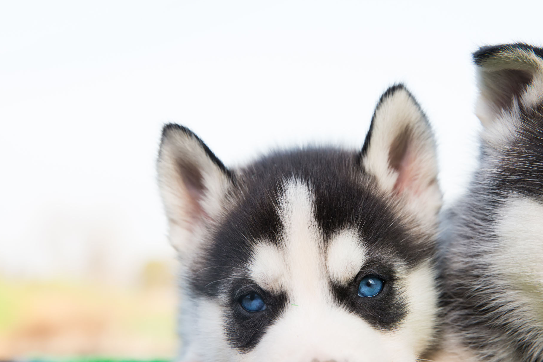
{"label": "black-and-white husky puppy with two blue eyes and upright ears", "polygon": [[167,124],[157,169],[182,265],[180,361],[414,362],[432,343],[441,193],[430,125],[402,85],[358,150],[228,168]]}

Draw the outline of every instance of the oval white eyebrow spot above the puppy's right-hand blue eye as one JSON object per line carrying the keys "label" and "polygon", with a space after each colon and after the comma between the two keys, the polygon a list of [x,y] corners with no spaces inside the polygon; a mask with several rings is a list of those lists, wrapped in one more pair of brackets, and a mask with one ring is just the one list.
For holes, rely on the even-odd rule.
{"label": "oval white eyebrow spot above the puppy's right-hand blue eye", "polygon": [[364,265],[364,248],[357,233],[342,230],[330,240],[326,267],[330,278],[339,284],[346,284],[356,277]]}

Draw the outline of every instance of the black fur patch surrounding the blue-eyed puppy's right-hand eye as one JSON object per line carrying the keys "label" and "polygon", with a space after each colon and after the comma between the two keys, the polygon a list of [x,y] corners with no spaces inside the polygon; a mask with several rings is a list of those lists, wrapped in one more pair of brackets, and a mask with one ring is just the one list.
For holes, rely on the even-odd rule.
{"label": "black fur patch surrounding the blue-eyed puppy's right-hand eye", "polygon": [[[358,296],[361,280],[372,275],[384,281],[382,290],[371,298]],[[398,326],[407,314],[405,298],[395,287],[396,272],[392,265],[369,259],[351,283],[339,285],[330,280],[332,294],[339,305],[367,321],[370,326],[390,330]]]}

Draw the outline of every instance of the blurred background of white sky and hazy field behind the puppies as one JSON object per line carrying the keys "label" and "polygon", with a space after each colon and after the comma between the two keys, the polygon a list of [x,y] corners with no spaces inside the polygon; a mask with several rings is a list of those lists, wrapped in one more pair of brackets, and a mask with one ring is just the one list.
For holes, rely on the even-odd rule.
{"label": "blurred background of white sky and hazy field behind the puppies", "polygon": [[471,52],[541,45],[539,1],[0,2],[0,360],[172,358],[165,122],[227,165],[362,146],[405,82],[450,204],[475,165]]}

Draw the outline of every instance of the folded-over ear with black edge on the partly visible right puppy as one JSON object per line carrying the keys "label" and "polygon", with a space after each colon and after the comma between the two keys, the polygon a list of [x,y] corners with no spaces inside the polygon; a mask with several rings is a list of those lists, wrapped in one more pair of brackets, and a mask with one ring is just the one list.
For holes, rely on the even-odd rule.
{"label": "folded-over ear with black edge on the partly visible right puppy", "polygon": [[533,108],[543,100],[543,49],[522,43],[485,46],[473,60],[480,92],[476,113],[483,127],[503,111]]}

